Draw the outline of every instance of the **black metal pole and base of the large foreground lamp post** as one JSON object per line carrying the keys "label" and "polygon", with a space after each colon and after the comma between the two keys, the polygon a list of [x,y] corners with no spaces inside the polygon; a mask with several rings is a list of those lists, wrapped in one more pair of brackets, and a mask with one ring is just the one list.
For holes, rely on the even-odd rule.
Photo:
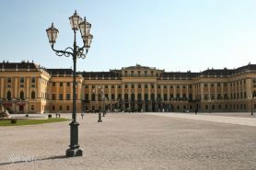
{"label": "black metal pole and base of the large foreground lamp post", "polygon": [[79,149],[78,144],[78,126],[79,123],[76,122],[76,30],[75,40],[74,40],[74,52],[73,52],[73,62],[74,62],[74,71],[73,71],[73,113],[72,113],[72,122],[70,125],[70,145],[66,150],[65,155],[68,157],[82,156],[83,151]]}

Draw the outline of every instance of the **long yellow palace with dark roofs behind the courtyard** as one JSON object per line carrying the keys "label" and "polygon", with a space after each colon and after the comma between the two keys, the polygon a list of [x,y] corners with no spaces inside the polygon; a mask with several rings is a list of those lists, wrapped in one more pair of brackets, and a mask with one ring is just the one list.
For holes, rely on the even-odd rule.
{"label": "long yellow palace with dark roofs behind the courtyard", "polygon": [[[73,110],[72,69],[47,69],[34,62],[0,62],[0,104],[11,113]],[[101,96],[105,96],[101,100]],[[165,72],[136,64],[109,72],[78,72],[77,112],[251,111],[256,64],[204,72]]]}

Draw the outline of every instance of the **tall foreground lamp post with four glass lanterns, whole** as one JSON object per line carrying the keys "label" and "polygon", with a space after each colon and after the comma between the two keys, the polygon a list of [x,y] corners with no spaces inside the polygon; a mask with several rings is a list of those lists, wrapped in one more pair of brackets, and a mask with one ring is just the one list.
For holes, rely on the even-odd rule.
{"label": "tall foreground lamp post with four glass lanterns, whole", "polygon": [[[70,125],[70,145],[66,150],[66,156],[75,157],[82,156],[83,151],[79,149],[78,144],[78,126],[79,123],[76,121],[76,59],[81,58],[85,59],[87,51],[90,48],[90,43],[93,36],[89,33],[91,24],[87,22],[86,17],[83,20],[79,17],[75,11],[75,14],[72,17],[69,17],[71,28],[74,31],[74,44],[72,47],[67,47],[64,51],[58,51],[54,49],[54,43],[56,42],[59,30],[54,28],[53,23],[52,27],[46,29],[49,42],[52,46],[52,51],[55,51],[58,56],[71,56],[74,62],[74,71],[73,71],[73,113],[72,113],[72,122]],[[80,29],[81,37],[83,39],[83,47],[78,47],[76,45],[76,32]]]}

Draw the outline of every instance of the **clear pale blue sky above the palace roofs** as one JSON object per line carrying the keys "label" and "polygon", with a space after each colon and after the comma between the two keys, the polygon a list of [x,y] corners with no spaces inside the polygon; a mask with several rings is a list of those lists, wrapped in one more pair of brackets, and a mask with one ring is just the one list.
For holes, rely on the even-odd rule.
{"label": "clear pale blue sky above the palace roofs", "polygon": [[136,63],[182,72],[237,68],[256,63],[255,9],[255,0],[0,1],[0,60],[70,68],[72,59],[55,56],[45,29],[54,22],[55,47],[72,46],[68,17],[77,10],[94,35],[79,71]]}

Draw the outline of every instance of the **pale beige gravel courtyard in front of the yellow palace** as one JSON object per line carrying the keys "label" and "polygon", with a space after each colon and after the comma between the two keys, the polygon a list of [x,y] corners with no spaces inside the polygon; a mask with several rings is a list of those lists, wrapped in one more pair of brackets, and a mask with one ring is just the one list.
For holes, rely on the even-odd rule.
{"label": "pale beige gravel courtyard in front of the yellow palace", "polygon": [[0,127],[0,169],[255,169],[255,126],[173,115],[183,118],[107,114],[98,123],[97,114],[86,114],[84,119],[78,115],[84,155],[76,158],[64,156],[68,122]]}

